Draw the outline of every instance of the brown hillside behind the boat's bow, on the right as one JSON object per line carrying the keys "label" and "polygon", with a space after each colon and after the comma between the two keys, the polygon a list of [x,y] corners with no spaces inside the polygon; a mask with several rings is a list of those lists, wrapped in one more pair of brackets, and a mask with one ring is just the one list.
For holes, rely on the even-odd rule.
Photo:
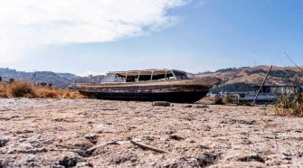
{"label": "brown hillside behind the boat's bow, on the right", "polygon": [[[251,85],[260,85],[269,69],[269,66],[229,68],[198,73],[194,76],[212,76],[223,79],[219,88],[213,89],[215,92],[222,90],[244,92],[248,91]],[[302,84],[302,77],[303,73],[297,67],[273,67],[266,80],[266,85],[290,85],[293,84],[294,79],[298,79],[298,83]]]}

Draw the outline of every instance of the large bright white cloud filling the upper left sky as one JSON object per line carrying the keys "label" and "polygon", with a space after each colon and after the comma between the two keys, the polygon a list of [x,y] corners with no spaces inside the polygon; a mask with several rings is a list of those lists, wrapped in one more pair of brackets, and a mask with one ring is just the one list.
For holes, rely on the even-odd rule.
{"label": "large bright white cloud filling the upper left sky", "polygon": [[110,42],[175,22],[187,0],[0,0],[0,63],[45,44]]}

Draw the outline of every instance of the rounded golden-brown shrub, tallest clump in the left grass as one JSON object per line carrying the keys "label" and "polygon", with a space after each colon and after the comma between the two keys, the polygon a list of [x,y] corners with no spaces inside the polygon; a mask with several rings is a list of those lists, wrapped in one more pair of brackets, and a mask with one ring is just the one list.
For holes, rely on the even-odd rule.
{"label": "rounded golden-brown shrub, tallest clump in the left grass", "polygon": [[33,84],[27,81],[14,81],[9,86],[10,94],[14,98],[35,98]]}

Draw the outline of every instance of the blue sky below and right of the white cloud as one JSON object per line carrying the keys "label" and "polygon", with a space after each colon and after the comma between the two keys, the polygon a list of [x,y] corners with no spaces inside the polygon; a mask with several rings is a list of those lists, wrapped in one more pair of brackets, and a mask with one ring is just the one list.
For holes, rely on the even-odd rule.
{"label": "blue sky below and right of the white cloud", "polygon": [[173,21],[142,23],[139,32],[100,42],[33,45],[0,66],[76,74],[151,68],[200,72],[253,66],[254,60],[291,65],[284,51],[303,64],[302,0],[192,0],[161,12]]}

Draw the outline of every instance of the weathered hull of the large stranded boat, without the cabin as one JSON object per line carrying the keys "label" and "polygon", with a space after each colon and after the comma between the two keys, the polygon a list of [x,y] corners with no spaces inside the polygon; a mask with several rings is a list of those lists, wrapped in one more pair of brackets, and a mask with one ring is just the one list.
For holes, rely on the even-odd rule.
{"label": "weathered hull of the large stranded boat, without the cabin", "polygon": [[142,83],[80,84],[80,93],[89,98],[194,103],[220,79],[183,79]]}

